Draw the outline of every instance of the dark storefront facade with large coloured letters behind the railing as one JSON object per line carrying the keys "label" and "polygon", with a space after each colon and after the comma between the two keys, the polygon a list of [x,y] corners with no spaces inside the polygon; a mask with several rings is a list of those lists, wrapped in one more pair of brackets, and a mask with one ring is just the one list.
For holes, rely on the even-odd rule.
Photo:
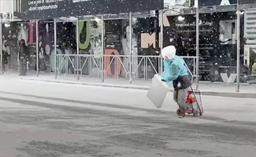
{"label": "dark storefront facade with large coloured letters behind the railing", "polygon": [[[216,0],[213,1],[198,1],[198,6],[224,6],[236,5],[235,1]],[[24,1],[25,3],[25,1]],[[81,15],[80,10],[74,11],[74,9],[65,12],[63,8],[72,6],[71,1],[58,1],[58,3],[52,4],[52,7],[58,5],[59,9],[42,9],[40,14],[35,9],[35,4],[29,4],[26,2],[23,6],[26,18],[28,20],[32,18],[39,18],[39,16],[47,17],[42,19],[38,23],[38,37],[39,37],[39,70],[47,72],[55,72],[55,53],[54,53],[54,25],[53,18],[60,17],[61,15]],[[111,1],[108,1],[111,3]],[[145,4],[137,3],[130,4],[131,6],[145,6]],[[152,2],[153,3],[153,2]],[[187,3],[184,1],[184,4]],[[243,1],[244,3],[244,1]],[[191,6],[195,5],[195,2],[190,1]],[[29,5],[29,6],[27,6]],[[85,4],[84,4],[85,5]],[[89,6],[90,7],[89,7]],[[84,7],[93,7],[96,5],[93,3],[86,4]],[[97,4],[104,6],[103,4]],[[122,4],[119,4],[122,5]],[[124,4],[123,4],[124,5]],[[150,4],[151,5],[151,4]],[[152,7],[152,6],[147,7]],[[159,5],[159,4],[158,4]],[[48,5],[49,6],[49,5]],[[45,6],[45,7],[48,7]],[[63,7],[62,7],[63,6]],[[187,6],[187,5],[186,5]],[[43,6],[44,7],[44,6]],[[160,6],[155,6],[160,8]],[[40,9],[40,8],[39,8]],[[128,9],[128,10],[127,10]],[[145,11],[147,8],[131,7],[126,10],[113,10],[113,14],[119,14],[120,12],[127,11]],[[130,9],[130,10],[129,10]],[[135,9],[135,10],[134,10]],[[96,14],[96,13],[108,13],[109,9],[103,9],[102,12],[93,12],[88,10],[83,13]],[[111,12],[112,13],[112,12]],[[132,22],[132,71],[134,79],[148,80],[151,79],[154,74],[160,72],[160,18],[159,11],[154,12],[155,15],[149,17],[134,17]],[[183,14],[175,16],[164,15],[163,16],[163,47],[169,45],[175,45],[177,48],[177,55],[183,56],[190,71],[195,72],[195,57],[196,56],[196,23],[195,14]],[[244,39],[246,37],[246,30],[244,29],[245,17],[241,16],[240,20],[240,73],[241,83],[247,82],[247,75],[251,74],[250,67],[247,66],[247,60],[251,60],[250,57],[244,57],[245,51],[251,51],[253,46],[247,46],[248,42]],[[216,82],[236,82],[236,11],[206,11],[200,13],[199,16],[199,71],[201,81],[216,81]],[[21,38],[27,41],[27,45],[30,47],[30,61],[29,69],[36,69],[36,28],[35,21],[23,21],[12,22],[10,26],[3,27],[3,43],[9,41],[11,43],[9,48],[12,47],[13,54],[17,51],[17,41]],[[87,57],[80,57],[79,64],[81,64],[81,74],[91,75],[98,77],[99,67],[101,66],[101,31],[102,25],[99,21],[79,21],[79,43],[76,42],[77,34],[76,22],[61,21],[57,23],[57,53],[63,54],[59,56],[58,60],[58,72],[60,74],[75,74],[76,73],[76,57],[77,45],[79,45],[79,54],[93,55],[93,59],[87,60]],[[12,29],[13,31],[10,31]],[[104,67],[106,77],[111,78],[127,78],[129,71],[129,20],[104,20]],[[247,33],[248,34],[248,33]],[[250,38],[251,39],[251,38]],[[255,44],[255,43],[254,43]],[[246,45],[246,46],[244,46]],[[253,45],[253,44],[250,44]],[[3,44],[3,50],[7,49],[7,43]],[[248,49],[249,47],[249,49]],[[4,50],[7,51],[7,50]],[[65,58],[64,55],[69,55]],[[120,56],[111,57],[109,55]],[[15,58],[15,55],[13,55]],[[14,59],[13,59],[14,60]],[[9,61],[10,62],[10,61]],[[251,64],[252,62],[250,62]],[[15,62],[10,67],[14,68]],[[92,74],[95,69],[95,74]],[[98,69],[98,70],[97,70]]]}

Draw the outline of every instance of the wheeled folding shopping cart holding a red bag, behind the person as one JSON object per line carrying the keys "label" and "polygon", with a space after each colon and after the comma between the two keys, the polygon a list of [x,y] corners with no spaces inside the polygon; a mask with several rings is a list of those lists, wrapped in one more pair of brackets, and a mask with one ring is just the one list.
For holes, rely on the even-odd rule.
{"label": "wheeled folding shopping cart holding a red bag, behind the person", "polygon": [[[186,103],[188,104],[188,107],[186,108],[187,114],[193,114],[194,116],[201,116],[203,115],[203,107],[202,107],[202,101],[201,101],[201,91],[198,89],[189,89]],[[177,114],[180,114],[180,109],[177,109]]]}

